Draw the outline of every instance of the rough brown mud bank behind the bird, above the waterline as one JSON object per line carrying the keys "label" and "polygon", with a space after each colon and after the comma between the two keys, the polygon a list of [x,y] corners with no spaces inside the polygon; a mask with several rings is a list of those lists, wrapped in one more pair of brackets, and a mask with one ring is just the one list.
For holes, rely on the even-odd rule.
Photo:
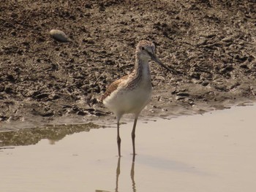
{"label": "rough brown mud bank behind the bird, above the waterline", "polygon": [[[254,0],[1,1],[0,131],[108,117],[97,98],[132,71],[141,39],[176,71],[151,64],[154,93],[142,116],[254,101],[255,20]],[[52,39],[53,28],[70,42]]]}

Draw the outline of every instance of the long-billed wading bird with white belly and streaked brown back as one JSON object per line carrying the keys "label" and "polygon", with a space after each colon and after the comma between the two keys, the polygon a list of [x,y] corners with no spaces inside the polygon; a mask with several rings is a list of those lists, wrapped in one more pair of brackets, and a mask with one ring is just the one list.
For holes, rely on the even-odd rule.
{"label": "long-billed wading bird with white belly and streaked brown back", "polygon": [[121,156],[121,138],[119,136],[119,123],[122,115],[133,113],[135,120],[132,128],[132,149],[135,159],[135,128],[141,110],[151,99],[152,85],[150,66],[148,61],[153,60],[168,71],[172,70],[162,64],[155,54],[153,42],[140,41],[135,50],[135,69],[127,76],[121,77],[109,85],[101,101],[117,119],[118,155]]}

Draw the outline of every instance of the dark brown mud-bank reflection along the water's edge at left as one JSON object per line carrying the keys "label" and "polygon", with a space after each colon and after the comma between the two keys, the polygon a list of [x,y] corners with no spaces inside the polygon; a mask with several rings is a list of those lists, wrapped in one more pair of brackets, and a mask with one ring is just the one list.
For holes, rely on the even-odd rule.
{"label": "dark brown mud-bank reflection along the water's edge at left", "polygon": [[66,135],[90,131],[91,128],[99,128],[99,126],[94,123],[86,123],[23,128],[19,131],[0,132],[0,149],[5,148],[5,146],[35,145],[41,139],[49,139],[50,142],[54,143],[63,139]]}

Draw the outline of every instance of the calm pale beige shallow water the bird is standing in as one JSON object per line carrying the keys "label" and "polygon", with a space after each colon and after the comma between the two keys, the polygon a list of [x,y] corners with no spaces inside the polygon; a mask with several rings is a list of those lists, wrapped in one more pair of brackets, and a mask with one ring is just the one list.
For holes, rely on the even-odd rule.
{"label": "calm pale beige shallow water the bird is standing in", "polygon": [[[0,147],[0,191],[255,191],[256,106]],[[69,133],[70,134],[70,133]],[[45,137],[48,138],[48,137]]]}

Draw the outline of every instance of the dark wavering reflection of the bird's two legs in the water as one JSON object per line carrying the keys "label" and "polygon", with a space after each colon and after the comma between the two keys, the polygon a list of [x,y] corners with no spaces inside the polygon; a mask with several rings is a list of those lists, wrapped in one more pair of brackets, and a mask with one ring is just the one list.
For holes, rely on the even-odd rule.
{"label": "dark wavering reflection of the bird's two legs in the water", "polygon": [[[116,166],[116,189],[115,192],[118,192],[118,180],[119,180],[119,175],[121,173],[121,158],[118,158],[117,161],[117,166]],[[131,167],[131,172],[130,172],[131,180],[132,180],[132,191],[136,192],[136,185],[135,185],[135,155],[133,155],[132,158],[132,167]],[[96,190],[95,192],[110,192],[110,191],[104,191],[104,190]]]}

